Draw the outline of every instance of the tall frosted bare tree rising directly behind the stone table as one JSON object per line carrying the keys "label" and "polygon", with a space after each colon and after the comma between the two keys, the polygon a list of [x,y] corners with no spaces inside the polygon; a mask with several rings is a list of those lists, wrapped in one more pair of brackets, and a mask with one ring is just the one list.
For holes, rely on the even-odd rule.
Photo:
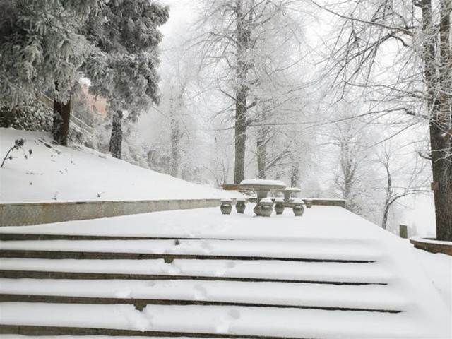
{"label": "tall frosted bare tree rising directly behind the stone table", "polygon": [[[236,183],[244,179],[247,129],[263,98],[261,84],[299,59],[299,54],[290,53],[290,47],[297,44],[294,32],[299,28],[290,15],[296,4],[290,0],[202,3],[195,41],[201,47],[206,78],[229,100],[222,112],[233,117]],[[285,65],[275,66],[276,54],[284,49]],[[264,106],[264,102],[260,104]]]}

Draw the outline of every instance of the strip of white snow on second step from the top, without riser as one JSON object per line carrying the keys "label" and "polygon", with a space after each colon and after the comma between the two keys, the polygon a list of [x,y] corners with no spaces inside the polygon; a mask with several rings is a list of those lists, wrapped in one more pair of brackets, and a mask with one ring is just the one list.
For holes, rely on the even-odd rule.
{"label": "strip of white snow on second step from the top, without riser", "polygon": [[2,270],[40,272],[77,272],[147,275],[182,275],[200,277],[304,280],[339,283],[385,284],[394,278],[379,264],[317,263],[290,261],[237,261],[174,259],[152,260],[75,260],[4,258]]}

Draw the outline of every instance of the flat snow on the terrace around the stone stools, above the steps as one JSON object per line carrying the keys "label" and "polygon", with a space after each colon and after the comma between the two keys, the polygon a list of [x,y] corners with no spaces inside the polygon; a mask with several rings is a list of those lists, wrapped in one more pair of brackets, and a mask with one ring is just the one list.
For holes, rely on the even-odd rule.
{"label": "flat snow on the terrace around the stone stools, above the steps", "polygon": [[[81,234],[134,237],[188,237],[253,240],[320,240],[349,245],[374,242],[391,234],[380,227],[335,206],[313,206],[302,218],[295,218],[290,208],[283,215],[251,218],[254,204],[246,206],[245,214],[222,215],[219,208],[198,208],[137,215],[124,215],[95,220],[55,222],[27,227],[1,227],[1,233]],[[124,227],[124,225],[127,225]],[[152,225],[152,227],[150,227]],[[320,227],[321,226],[321,227]],[[347,227],[347,228],[345,228]],[[391,239],[392,239],[391,235]],[[364,244],[363,243],[363,244]]]}

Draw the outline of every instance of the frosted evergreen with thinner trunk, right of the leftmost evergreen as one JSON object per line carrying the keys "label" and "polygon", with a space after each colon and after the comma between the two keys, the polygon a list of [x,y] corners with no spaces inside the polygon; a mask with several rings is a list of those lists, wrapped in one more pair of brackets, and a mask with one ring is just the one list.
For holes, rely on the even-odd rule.
{"label": "frosted evergreen with thinner trunk, right of the leftmost evergreen", "polygon": [[84,65],[95,95],[107,98],[112,116],[110,153],[121,157],[123,111],[137,114],[159,101],[159,26],[168,8],[148,0],[109,1],[87,28],[95,49]]}

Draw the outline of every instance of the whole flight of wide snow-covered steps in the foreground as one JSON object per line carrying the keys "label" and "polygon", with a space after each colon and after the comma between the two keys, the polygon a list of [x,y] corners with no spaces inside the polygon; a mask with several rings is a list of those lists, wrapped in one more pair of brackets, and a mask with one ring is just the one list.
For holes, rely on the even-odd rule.
{"label": "whole flight of wide snow-covered steps in the foreground", "polygon": [[0,240],[1,334],[427,338],[371,240],[11,232]]}

